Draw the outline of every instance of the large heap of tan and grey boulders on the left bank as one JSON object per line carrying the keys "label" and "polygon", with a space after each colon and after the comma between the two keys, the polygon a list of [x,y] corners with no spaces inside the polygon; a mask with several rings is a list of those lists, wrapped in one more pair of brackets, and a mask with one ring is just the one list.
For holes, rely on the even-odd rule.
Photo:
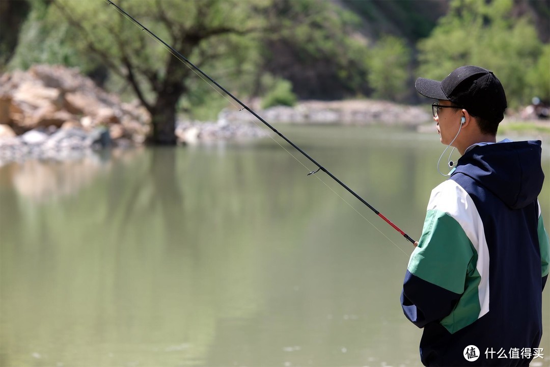
{"label": "large heap of tan and grey boulders on the left bank", "polygon": [[141,144],[149,120],[144,108],[123,103],[78,69],[35,65],[0,76],[0,163]]}

